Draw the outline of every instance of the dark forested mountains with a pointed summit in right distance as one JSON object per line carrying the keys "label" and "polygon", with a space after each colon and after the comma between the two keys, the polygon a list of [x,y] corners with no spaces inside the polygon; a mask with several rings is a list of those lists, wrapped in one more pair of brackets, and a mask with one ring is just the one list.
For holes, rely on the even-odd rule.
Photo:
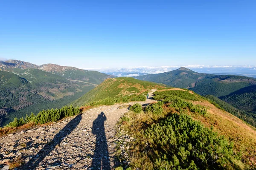
{"label": "dark forested mountains with a pointed summit in right distance", "polygon": [[242,111],[256,113],[256,79],[237,75],[214,75],[188,68],[137,76],[136,79],[187,88],[197,94],[213,95]]}

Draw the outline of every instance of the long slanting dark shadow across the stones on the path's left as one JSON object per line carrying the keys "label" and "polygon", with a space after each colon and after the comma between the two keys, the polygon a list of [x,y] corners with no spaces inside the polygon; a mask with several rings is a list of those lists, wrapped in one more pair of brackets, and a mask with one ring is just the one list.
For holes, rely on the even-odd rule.
{"label": "long slanting dark shadow across the stones on the path's left", "polygon": [[[32,158],[30,161],[28,161],[26,164],[23,164],[22,167],[19,169],[21,170],[33,170],[38,165],[40,162],[54,150],[56,145],[59,145],[61,141],[64,139],[64,137],[68,136],[76,127],[79,125],[81,122],[82,115],[79,114],[77,115],[74,119],[72,119],[70,122],[67,123],[67,125],[61,129],[55,136],[54,138],[48,142],[47,144],[44,145],[44,147],[37,153],[37,158]],[[56,163],[56,162],[55,162]],[[44,168],[47,167],[47,165],[43,165]]]}

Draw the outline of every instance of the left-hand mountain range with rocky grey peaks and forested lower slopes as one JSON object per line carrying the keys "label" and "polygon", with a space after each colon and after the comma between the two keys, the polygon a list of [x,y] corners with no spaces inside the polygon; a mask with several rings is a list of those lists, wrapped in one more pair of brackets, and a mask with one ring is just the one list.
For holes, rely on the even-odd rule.
{"label": "left-hand mountain range with rocky grey peaks and forested lower slopes", "polygon": [[111,77],[55,64],[0,61],[0,126],[14,117],[67,105]]}

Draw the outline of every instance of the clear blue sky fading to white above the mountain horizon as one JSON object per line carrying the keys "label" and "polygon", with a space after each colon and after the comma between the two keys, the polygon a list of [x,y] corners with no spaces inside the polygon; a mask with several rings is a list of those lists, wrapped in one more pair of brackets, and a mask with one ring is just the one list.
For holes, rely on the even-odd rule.
{"label": "clear blue sky fading to white above the mountain horizon", "polygon": [[1,0],[0,58],[79,68],[256,65],[256,0]]}

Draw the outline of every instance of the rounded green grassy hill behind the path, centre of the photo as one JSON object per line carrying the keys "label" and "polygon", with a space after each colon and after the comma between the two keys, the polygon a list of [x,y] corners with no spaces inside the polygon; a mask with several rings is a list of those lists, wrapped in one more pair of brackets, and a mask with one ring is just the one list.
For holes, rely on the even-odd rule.
{"label": "rounded green grassy hill behind the path, centre of the photo", "polygon": [[89,102],[105,99],[107,97],[121,97],[131,94],[140,94],[156,88],[164,88],[164,85],[130,77],[106,79],[102,84],[72,102],[72,105],[83,106]]}

